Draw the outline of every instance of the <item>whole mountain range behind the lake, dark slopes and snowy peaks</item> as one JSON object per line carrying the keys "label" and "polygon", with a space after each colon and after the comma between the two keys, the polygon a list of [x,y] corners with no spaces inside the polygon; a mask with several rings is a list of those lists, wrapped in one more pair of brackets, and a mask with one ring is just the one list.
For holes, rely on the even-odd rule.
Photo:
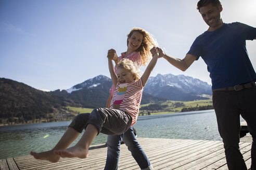
{"label": "whole mountain range behind the lake, dark slopes and snowy peaks", "polygon": [[[0,78],[0,123],[10,118],[45,118],[47,114],[56,112],[72,117],[65,106],[105,107],[111,86],[110,78],[99,75],[67,90],[44,92],[21,82]],[[146,83],[142,104],[202,100],[206,99],[204,94],[212,94],[211,86],[206,82],[184,75],[158,74]]]}

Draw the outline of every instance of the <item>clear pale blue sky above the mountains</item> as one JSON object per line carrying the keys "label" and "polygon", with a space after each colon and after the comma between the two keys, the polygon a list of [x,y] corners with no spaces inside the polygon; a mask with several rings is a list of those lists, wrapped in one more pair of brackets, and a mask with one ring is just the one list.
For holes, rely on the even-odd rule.
{"label": "clear pale blue sky above the mountains", "polygon": [[[126,50],[126,35],[142,27],[168,54],[184,58],[208,29],[197,0],[0,0],[0,77],[36,89],[69,89],[98,75],[110,77],[106,54]],[[256,27],[255,0],[223,0],[226,23]],[[256,41],[247,41],[256,69]],[[144,70],[145,67],[142,68]],[[181,72],[159,59],[151,76],[184,74],[211,84],[200,58]]]}

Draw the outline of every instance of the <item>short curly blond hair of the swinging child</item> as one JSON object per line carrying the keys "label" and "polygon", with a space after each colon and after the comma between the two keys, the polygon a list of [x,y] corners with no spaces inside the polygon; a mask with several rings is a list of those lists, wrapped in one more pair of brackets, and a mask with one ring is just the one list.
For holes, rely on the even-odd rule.
{"label": "short curly blond hair of the swinging child", "polygon": [[139,78],[140,78],[140,75],[139,75],[140,70],[139,70],[137,64],[132,62],[129,59],[122,59],[120,62],[118,62],[117,68],[124,68],[127,71],[131,72],[135,76],[134,80],[136,80],[136,81],[139,80]]}

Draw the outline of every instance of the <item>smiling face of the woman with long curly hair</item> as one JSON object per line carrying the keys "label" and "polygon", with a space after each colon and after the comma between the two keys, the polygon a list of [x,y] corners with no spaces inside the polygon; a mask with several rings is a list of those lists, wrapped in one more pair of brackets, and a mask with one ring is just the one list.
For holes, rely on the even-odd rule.
{"label": "smiling face of the woman with long curly hair", "polygon": [[137,50],[142,45],[143,35],[134,31],[130,38],[128,38],[128,49]]}

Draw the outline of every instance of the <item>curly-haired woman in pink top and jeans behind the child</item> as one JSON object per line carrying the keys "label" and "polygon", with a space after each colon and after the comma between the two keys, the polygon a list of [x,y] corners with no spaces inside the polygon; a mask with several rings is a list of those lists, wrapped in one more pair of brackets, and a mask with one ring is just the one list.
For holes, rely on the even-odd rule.
{"label": "curly-haired woman in pink top and jeans behind the child", "polygon": [[[140,28],[133,28],[130,33],[127,35],[127,50],[126,52],[121,53],[121,56],[118,57],[115,50],[111,49],[108,51],[108,56],[117,63],[122,59],[129,59],[136,63],[138,67],[141,65],[146,65],[151,58],[150,49],[153,46],[156,46],[156,40],[145,30]],[[117,68],[115,67],[117,72]],[[112,96],[113,96],[114,86],[110,89],[110,94],[107,102],[109,107]],[[108,153],[105,169],[117,169],[119,154],[120,154],[120,145],[121,140],[123,139],[125,145],[131,151],[133,158],[138,163],[141,169],[153,169],[150,164],[144,150],[139,145],[131,126],[124,134],[122,135],[109,135],[107,139]]]}

